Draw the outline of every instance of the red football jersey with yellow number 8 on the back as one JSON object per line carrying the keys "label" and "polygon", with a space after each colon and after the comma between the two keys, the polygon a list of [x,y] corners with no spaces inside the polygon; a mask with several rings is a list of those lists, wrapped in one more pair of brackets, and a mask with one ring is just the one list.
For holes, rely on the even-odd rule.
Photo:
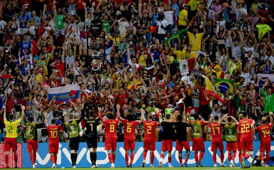
{"label": "red football jersey with yellow number 8 on the back", "polygon": [[105,138],[117,138],[116,128],[117,128],[118,119],[104,120],[105,124]]}

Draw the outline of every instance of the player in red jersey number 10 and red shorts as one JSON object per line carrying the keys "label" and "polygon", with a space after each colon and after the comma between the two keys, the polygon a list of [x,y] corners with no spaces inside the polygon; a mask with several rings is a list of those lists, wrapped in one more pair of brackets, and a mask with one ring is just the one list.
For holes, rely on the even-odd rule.
{"label": "player in red jersey number 10 and red shorts", "polygon": [[[65,113],[63,113],[65,116]],[[51,125],[47,125],[49,134],[49,154],[52,163],[52,168],[56,168],[57,154],[59,149],[59,134],[63,124],[56,125],[56,119],[51,119]]]}

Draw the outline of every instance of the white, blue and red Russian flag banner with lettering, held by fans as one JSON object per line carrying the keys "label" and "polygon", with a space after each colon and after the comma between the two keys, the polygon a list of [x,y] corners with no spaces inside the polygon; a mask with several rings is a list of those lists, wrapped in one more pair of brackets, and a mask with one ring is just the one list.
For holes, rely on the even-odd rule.
{"label": "white, blue and red Russian flag banner with lettering, held by fans", "polygon": [[71,98],[72,102],[76,103],[76,100],[78,99],[80,95],[80,87],[78,86],[78,84],[73,84],[70,86],[63,86],[63,87],[56,87],[56,88],[49,88],[48,89],[49,101],[51,101],[54,98],[54,96],[58,97],[58,99],[56,100],[57,104],[68,101],[70,91],[72,90],[77,91],[77,93],[73,94]]}

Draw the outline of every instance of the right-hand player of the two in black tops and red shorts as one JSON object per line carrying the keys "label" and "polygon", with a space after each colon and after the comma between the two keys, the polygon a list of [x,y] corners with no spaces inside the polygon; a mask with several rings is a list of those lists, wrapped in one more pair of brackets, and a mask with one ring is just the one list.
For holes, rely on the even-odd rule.
{"label": "right-hand player of the two in black tops and red shorts", "polygon": [[[175,114],[178,114],[178,111],[175,111]],[[189,157],[189,153],[190,153],[190,146],[189,146],[189,142],[187,140],[187,132],[186,129],[189,126],[188,122],[186,122],[186,117],[185,117],[185,121],[183,122],[183,115],[178,114],[177,117],[177,122],[175,122],[175,130],[176,130],[176,151],[178,151],[178,157],[179,157],[179,162],[181,164],[181,167],[183,167],[184,165],[186,167],[188,167],[187,165],[187,160]],[[185,153],[185,162],[183,164],[183,157],[182,157],[182,150],[183,147],[186,150]]]}

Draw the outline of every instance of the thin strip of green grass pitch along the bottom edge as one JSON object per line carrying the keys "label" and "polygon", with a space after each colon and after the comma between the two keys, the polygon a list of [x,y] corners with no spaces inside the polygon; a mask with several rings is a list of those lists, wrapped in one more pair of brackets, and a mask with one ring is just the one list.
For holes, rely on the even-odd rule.
{"label": "thin strip of green grass pitch along the bottom edge", "polygon": [[[23,169],[23,170],[31,170],[33,168],[20,168],[20,169]],[[51,168],[39,168],[39,170],[50,170]],[[72,168],[64,168],[66,170],[73,170]],[[77,169],[77,168],[76,168]],[[90,168],[78,168],[80,170],[90,170]],[[105,169],[110,169],[110,168],[95,168],[95,169],[98,169],[98,170],[105,170]],[[240,169],[240,167],[217,167],[217,168],[214,168],[214,167],[199,167],[199,168],[196,168],[196,167],[189,167],[189,168],[182,168],[182,167],[174,167],[174,168],[168,168],[168,167],[162,167],[162,168],[158,168],[158,167],[154,167],[154,168],[141,168],[141,167],[137,167],[137,168],[114,168],[114,169],[118,169],[118,170],[155,170],[155,169],[161,169],[161,170],[164,170],[164,169],[169,169],[169,170],[179,170],[179,169],[197,169],[197,170],[215,170],[215,169],[223,169],[223,170],[228,170],[228,169]],[[273,167],[250,167],[248,168],[247,170],[271,170],[271,169],[274,169]]]}

